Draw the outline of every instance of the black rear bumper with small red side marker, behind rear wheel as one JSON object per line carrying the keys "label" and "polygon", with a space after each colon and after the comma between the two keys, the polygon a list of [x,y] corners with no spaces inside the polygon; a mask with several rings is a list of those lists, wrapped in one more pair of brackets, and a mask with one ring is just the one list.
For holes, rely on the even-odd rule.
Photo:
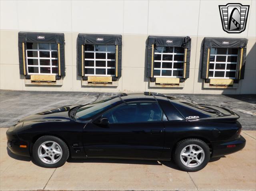
{"label": "black rear bumper with small red side marker, behind rear wheel", "polygon": [[[212,157],[220,157],[234,152],[242,150],[246,144],[246,140],[243,136],[234,141],[218,141],[212,142]],[[228,148],[228,145],[235,145],[234,147]]]}

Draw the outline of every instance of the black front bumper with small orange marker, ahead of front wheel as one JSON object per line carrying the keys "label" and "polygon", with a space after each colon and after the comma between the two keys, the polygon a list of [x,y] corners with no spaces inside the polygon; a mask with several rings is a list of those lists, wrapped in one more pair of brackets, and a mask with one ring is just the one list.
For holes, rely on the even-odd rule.
{"label": "black front bumper with small orange marker, ahead of front wheel", "polygon": [[[7,137],[7,147],[13,154],[21,155],[21,156],[30,156],[29,142],[20,140],[13,126],[6,131],[6,137]],[[21,145],[23,146],[25,145],[26,148],[20,147]]]}

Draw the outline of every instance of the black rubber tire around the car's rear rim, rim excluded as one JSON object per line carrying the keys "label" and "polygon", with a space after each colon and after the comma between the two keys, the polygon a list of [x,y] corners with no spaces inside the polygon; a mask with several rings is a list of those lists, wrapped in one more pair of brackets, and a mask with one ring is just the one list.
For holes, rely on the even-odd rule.
{"label": "black rubber tire around the car's rear rim, rim excluded", "polygon": [[[202,148],[202,150],[204,151],[204,160],[202,161],[202,163],[200,163],[200,165],[198,165],[196,167],[186,166],[184,163],[182,163],[182,159],[180,158],[181,157],[180,154],[181,154],[182,150],[186,146],[189,146],[189,145],[200,146]],[[185,140],[182,140],[177,143],[177,146],[173,153],[173,159],[174,159],[174,162],[176,163],[176,165],[183,171],[187,171],[187,172],[199,171],[207,165],[207,163],[210,159],[210,149],[209,149],[208,145],[200,139],[195,139],[195,138],[185,139]],[[192,161],[192,163],[193,162],[195,162],[195,161]]]}

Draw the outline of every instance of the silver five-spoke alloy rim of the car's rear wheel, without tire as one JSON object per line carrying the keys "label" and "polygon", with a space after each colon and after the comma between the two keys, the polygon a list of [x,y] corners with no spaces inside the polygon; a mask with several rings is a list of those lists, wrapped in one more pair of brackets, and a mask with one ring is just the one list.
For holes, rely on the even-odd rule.
{"label": "silver five-spoke alloy rim of the car's rear wheel, without tire", "polygon": [[198,167],[204,161],[204,150],[195,144],[188,145],[181,150],[180,160],[186,167]]}

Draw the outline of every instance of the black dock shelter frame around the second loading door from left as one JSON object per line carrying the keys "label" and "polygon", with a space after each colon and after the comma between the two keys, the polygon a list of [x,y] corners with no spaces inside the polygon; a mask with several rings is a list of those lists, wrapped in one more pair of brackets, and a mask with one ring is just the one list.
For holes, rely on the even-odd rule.
{"label": "black dock shelter frame around the second loading door from left", "polygon": [[[121,77],[122,73],[122,35],[110,34],[84,34],[79,33],[77,37],[77,66],[78,75],[84,75],[84,45],[115,45],[116,52],[116,77]],[[83,51],[82,51],[83,49]]]}

